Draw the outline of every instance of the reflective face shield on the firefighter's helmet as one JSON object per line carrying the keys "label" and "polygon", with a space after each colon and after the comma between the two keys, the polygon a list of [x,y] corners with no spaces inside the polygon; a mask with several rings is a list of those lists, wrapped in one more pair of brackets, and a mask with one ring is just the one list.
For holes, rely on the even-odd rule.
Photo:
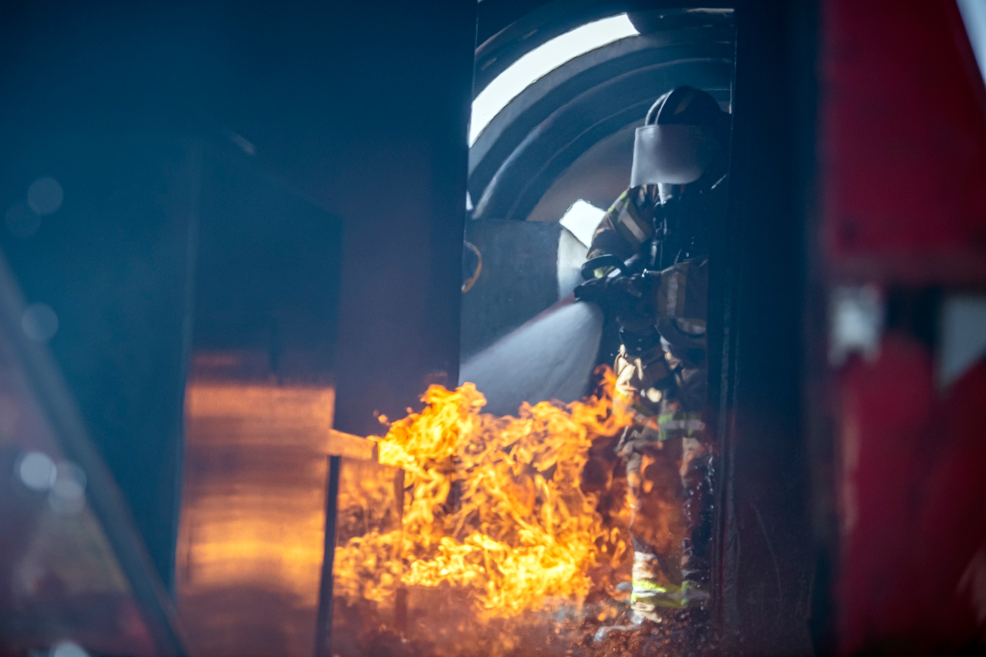
{"label": "reflective face shield on the firefighter's helmet", "polygon": [[718,148],[707,127],[679,123],[639,127],[630,186],[694,183],[708,169]]}

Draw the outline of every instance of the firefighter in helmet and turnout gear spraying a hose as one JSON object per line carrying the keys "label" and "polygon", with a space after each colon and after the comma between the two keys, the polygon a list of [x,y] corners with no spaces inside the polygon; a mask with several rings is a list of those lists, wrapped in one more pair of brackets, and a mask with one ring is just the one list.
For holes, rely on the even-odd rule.
{"label": "firefighter in helmet and turnout gear spraying a hose", "polygon": [[630,188],[606,212],[576,298],[619,327],[616,401],[633,412],[627,469],[635,620],[708,596],[709,231],[725,212],[730,116],[679,87],[637,129]]}

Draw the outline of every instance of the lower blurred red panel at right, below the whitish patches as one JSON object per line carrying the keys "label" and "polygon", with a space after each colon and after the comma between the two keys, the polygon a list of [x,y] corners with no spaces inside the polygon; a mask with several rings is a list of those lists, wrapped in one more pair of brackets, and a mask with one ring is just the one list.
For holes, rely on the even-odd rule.
{"label": "lower blurred red panel at right, below the whitish patches", "polygon": [[931,374],[922,345],[891,335],[877,363],[854,362],[843,375],[844,654],[983,638],[986,610],[963,575],[986,547],[986,362],[945,399]]}

